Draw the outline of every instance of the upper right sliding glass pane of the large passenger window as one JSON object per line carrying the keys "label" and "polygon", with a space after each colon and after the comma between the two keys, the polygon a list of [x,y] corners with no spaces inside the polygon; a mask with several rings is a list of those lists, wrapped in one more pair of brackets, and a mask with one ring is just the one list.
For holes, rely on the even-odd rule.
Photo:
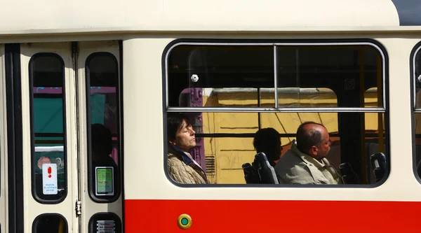
{"label": "upper right sliding glass pane of the large passenger window", "polygon": [[279,46],[277,50],[279,107],[382,106],[382,65],[375,48]]}

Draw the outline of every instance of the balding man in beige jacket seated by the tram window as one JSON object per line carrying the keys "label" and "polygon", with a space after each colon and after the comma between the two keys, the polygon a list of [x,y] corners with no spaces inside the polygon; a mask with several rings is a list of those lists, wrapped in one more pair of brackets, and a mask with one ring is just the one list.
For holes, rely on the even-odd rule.
{"label": "balding man in beige jacket seated by the tram window", "polygon": [[338,184],[338,172],[326,159],[330,138],[326,127],[316,122],[304,122],[297,129],[297,139],[276,163],[280,183]]}

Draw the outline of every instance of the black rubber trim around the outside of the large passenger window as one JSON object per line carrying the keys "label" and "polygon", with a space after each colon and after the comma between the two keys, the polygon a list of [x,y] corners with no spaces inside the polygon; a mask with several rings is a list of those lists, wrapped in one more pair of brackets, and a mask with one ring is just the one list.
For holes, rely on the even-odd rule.
{"label": "black rubber trim around the outside of the large passenger window", "polygon": [[[385,63],[382,64],[382,66],[385,66],[385,87],[383,87],[383,90],[385,90],[385,156],[387,158],[387,174],[382,178],[381,181],[370,184],[370,185],[323,185],[323,187],[326,188],[376,188],[387,180],[390,174],[390,154],[389,154],[389,147],[390,147],[390,137],[389,137],[389,57],[387,55],[387,50],[385,49],[385,46],[382,45],[379,41],[375,41],[372,38],[333,38],[333,39],[206,39],[206,38],[178,38],[174,41],[171,41],[171,43],[168,43],[166,48],[164,48],[161,56],[161,67],[162,67],[162,113],[163,113],[163,156],[164,156],[164,162],[163,162],[163,172],[168,178],[168,181],[173,183],[173,185],[181,187],[181,188],[210,188],[210,187],[243,187],[243,188],[250,188],[250,187],[271,187],[271,188],[320,188],[320,185],[266,185],[266,184],[206,184],[206,185],[193,185],[193,184],[180,184],[175,181],[169,176],[167,171],[167,133],[166,133],[166,120],[167,120],[167,113],[166,113],[166,57],[171,52],[171,49],[174,45],[177,43],[372,43],[373,45],[377,45],[378,48],[382,51]],[[282,46],[288,46],[288,45],[282,45]]]}

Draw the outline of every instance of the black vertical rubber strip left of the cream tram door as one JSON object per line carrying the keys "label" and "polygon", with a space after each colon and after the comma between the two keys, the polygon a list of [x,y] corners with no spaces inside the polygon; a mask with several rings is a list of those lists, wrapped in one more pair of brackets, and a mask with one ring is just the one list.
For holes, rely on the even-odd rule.
{"label": "black vertical rubber strip left of the cream tram door", "polygon": [[5,45],[8,138],[8,230],[24,232],[20,44]]}

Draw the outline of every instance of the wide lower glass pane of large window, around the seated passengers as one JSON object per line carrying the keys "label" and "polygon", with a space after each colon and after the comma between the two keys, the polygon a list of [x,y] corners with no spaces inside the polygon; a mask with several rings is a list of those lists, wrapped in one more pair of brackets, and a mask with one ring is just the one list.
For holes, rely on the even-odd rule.
{"label": "wide lower glass pane of large window, around the seated passengers", "polygon": [[[173,115],[175,114],[168,113],[168,118],[173,118]],[[188,116],[194,131],[190,132],[189,139],[195,139],[195,143],[187,146],[187,150],[180,150],[187,156],[191,155],[191,159],[201,167],[196,172],[200,174],[202,170],[209,183],[246,183],[242,166],[246,163],[252,164],[258,150],[267,155],[269,164],[276,166],[276,163],[282,161],[279,157],[283,157],[293,146],[298,127],[308,121],[326,127],[331,141],[326,159],[335,171],[339,175],[349,174],[340,167],[340,164],[349,164],[353,174],[358,177],[359,184],[377,182],[370,156],[375,153],[387,155],[385,120],[382,113],[184,113],[184,115]],[[180,132],[171,136],[173,134],[171,132],[175,132],[171,128],[177,128],[177,125],[173,127],[171,124],[167,124],[170,142],[168,152],[182,155],[180,151],[174,152],[171,149],[173,145],[178,148],[183,148],[184,145],[182,140],[177,139],[177,134]],[[267,132],[267,128],[273,128],[276,133]],[[264,129],[263,131],[267,133],[260,133],[255,139],[256,132],[260,129]],[[272,129],[269,130],[273,132]],[[171,138],[175,138],[174,144],[171,144],[173,142]],[[262,143],[259,143],[259,139]],[[277,146],[281,146],[281,151],[276,150]],[[168,164],[174,162],[174,157],[170,157]],[[168,169],[170,175],[171,172],[175,172],[175,168],[171,166]],[[174,180],[178,181],[177,178]]]}

